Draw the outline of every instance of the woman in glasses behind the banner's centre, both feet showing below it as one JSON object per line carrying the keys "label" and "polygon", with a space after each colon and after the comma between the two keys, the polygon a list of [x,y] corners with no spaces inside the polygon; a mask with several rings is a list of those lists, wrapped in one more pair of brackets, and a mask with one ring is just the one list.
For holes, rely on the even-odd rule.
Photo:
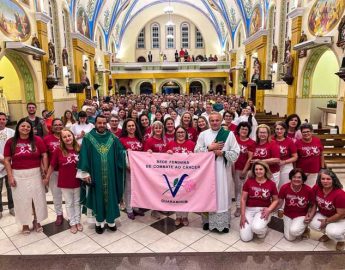
{"label": "woman in glasses behind the banner's centre, both feet showing below it", "polygon": [[[167,145],[167,153],[193,153],[194,147],[195,142],[188,139],[187,130],[182,126],[178,126],[175,132],[175,140]],[[175,225],[179,226],[181,223],[184,226],[189,225],[187,212],[176,212]]]}

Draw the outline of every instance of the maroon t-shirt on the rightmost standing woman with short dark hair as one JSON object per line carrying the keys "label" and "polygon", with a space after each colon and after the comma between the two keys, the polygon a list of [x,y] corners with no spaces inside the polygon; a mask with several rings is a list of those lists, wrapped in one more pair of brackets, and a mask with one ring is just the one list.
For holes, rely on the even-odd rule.
{"label": "maroon t-shirt on the rightmost standing woman with short dark hair", "polygon": [[310,143],[297,140],[296,148],[298,154],[296,167],[301,168],[305,173],[318,173],[321,169],[323,151],[320,139],[313,136]]}

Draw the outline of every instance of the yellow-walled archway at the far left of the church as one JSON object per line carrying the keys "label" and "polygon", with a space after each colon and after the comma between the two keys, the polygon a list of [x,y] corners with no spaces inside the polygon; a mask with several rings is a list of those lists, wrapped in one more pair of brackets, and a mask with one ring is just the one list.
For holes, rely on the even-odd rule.
{"label": "yellow-walled archway at the far left of the church", "polygon": [[[0,107],[0,111],[9,113],[10,120],[15,121],[23,116],[24,103],[35,101],[35,87],[32,73],[24,61],[17,53],[6,51],[3,57],[0,57],[0,89],[5,98],[4,104],[7,108]],[[6,106],[5,106],[6,107]]]}

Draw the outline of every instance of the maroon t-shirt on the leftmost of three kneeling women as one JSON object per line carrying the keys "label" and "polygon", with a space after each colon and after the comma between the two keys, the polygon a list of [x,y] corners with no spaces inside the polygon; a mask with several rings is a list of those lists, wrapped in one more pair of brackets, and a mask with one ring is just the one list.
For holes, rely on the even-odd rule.
{"label": "maroon t-shirt on the leftmost of three kneeling women", "polygon": [[243,185],[243,191],[248,192],[248,207],[269,207],[272,196],[278,195],[276,184],[272,180],[266,180],[259,184],[255,178],[248,178]]}

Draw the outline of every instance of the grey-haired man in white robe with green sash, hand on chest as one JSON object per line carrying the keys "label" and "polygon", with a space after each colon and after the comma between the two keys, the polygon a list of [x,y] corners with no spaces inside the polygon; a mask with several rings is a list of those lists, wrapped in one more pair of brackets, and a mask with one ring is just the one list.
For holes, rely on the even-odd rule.
{"label": "grey-haired man in white robe with green sash, hand on chest", "polygon": [[213,152],[216,160],[217,211],[203,215],[204,230],[228,233],[230,228],[231,164],[240,153],[234,134],[221,127],[218,112],[209,115],[210,129],[200,133],[194,152]]}

